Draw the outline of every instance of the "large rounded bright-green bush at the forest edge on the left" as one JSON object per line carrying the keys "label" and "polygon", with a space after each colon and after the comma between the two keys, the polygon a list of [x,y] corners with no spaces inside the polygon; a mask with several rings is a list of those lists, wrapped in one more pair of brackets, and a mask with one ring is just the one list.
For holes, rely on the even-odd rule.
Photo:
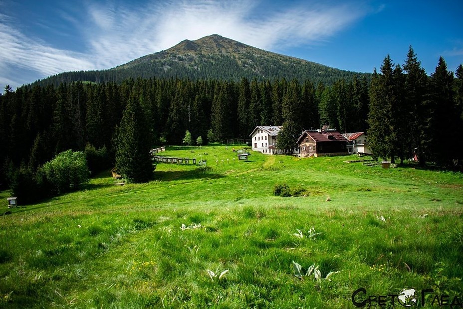
{"label": "large rounded bright-green bush at the forest edge on the left", "polygon": [[81,151],[66,150],[40,168],[44,182],[51,186],[52,193],[60,194],[78,189],[88,182],[90,171],[85,155]]}

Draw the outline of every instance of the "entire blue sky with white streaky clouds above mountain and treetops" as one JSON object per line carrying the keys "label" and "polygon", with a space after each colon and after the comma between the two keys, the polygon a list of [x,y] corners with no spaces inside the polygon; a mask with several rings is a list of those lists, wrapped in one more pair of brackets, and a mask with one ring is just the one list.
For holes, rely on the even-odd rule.
{"label": "entire blue sky with white streaky clouds above mountain and treetops", "polygon": [[462,0],[0,0],[0,86],[107,69],[220,34],[331,67],[372,72],[410,45],[428,74],[463,62]]}

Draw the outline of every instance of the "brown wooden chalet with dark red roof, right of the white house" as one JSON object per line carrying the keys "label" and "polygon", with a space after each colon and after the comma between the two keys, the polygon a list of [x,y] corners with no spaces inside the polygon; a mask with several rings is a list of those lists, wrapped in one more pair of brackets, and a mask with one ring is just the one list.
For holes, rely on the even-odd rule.
{"label": "brown wooden chalet with dark red roof, right of the white house", "polygon": [[344,156],[347,139],[336,130],[305,130],[297,140],[300,157]]}

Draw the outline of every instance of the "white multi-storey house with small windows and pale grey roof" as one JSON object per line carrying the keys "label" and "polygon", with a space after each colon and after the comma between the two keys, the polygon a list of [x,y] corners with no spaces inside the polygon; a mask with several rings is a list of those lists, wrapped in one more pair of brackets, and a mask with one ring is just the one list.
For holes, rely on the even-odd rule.
{"label": "white multi-storey house with small windows and pale grey roof", "polygon": [[257,126],[249,135],[253,151],[263,154],[280,154],[281,150],[276,148],[276,140],[280,126]]}

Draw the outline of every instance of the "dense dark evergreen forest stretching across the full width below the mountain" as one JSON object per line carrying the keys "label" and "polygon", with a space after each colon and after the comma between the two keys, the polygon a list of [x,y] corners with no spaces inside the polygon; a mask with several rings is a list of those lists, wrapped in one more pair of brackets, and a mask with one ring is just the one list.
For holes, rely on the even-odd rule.
{"label": "dense dark evergreen forest stretching across the full width below the mountain", "polygon": [[[118,163],[117,153],[122,157],[130,146],[148,154],[155,145],[181,144],[187,130],[204,144],[246,139],[257,125],[283,125],[288,136],[324,124],[341,132],[367,131],[379,158],[405,160],[417,148],[423,164],[455,167],[461,164],[455,146],[460,141],[453,138],[462,132],[461,65],[456,76],[442,58],[427,76],[410,48],[403,66],[386,57],[371,84],[365,77],[330,86],[243,77],[36,84],[16,91],[7,86],[0,95],[0,183],[8,187],[21,166],[33,173],[68,149],[85,151],[96,172]],[[127,147],[117,147],[122,144]],[[118,165],[123,164],[129,163]]]}

